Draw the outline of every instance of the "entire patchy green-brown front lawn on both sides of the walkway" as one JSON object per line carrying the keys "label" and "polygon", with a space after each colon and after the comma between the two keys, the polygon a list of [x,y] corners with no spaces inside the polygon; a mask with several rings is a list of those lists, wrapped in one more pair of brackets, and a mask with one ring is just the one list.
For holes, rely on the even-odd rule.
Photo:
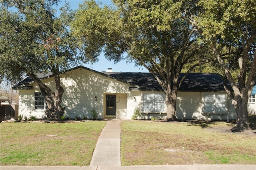
{"label": "entire patchy green-brown front lawn on both sides of the walkway", "polygon": [[[89,166],[105,124],[1,123],[0,166]],[[256,135],[208,130],[233,125],[125,121],[122,165],[255,164]],[[255,119],[251,125],[255,129]]]}

